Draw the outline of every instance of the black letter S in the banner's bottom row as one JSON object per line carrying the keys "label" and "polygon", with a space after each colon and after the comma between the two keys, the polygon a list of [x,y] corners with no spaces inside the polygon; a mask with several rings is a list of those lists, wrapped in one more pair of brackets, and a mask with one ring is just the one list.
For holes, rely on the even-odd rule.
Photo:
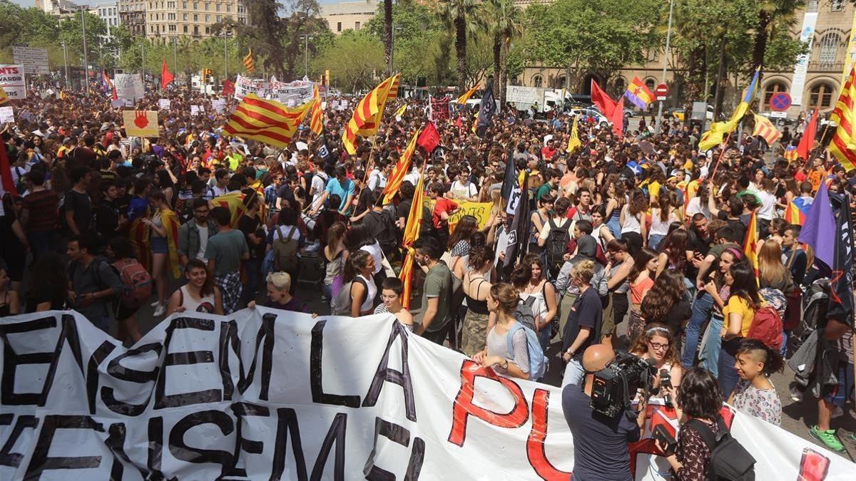
{"label": "black letter S in the banner's bottom row", "polygon": [[220,429],[220,432],[223,433],[223,436],[229,436],[229,434],[232,434],[232,431],[235,431],[232,418],[229,414],[222,411],[209,409],[190,413],[175,423],[175,426],[169,431],[169,453],[175,456],[175,459],[187,461],[188,463],[218,464],[221,466],[221,477],[232,476],[231,469],[232,466],[235,466],[235,460],[232,459],[232,454],[229,451],[192,448],[184,443],[184,433],[193,427],[205,424],[216,425]]}

